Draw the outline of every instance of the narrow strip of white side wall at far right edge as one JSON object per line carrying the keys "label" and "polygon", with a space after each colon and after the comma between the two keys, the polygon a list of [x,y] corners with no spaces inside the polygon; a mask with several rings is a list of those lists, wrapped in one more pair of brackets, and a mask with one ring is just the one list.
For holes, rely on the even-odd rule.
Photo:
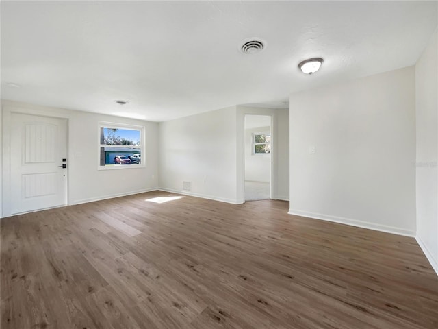
{"label": "narrow strip of white side wall at far right edge", "polygon": [[417,241],[438,273],[438,34],[415,66]]}

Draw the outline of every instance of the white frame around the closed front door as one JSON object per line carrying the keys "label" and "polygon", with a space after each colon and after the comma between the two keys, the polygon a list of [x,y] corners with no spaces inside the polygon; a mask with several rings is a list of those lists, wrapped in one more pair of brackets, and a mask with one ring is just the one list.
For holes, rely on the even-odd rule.
{"label": "white frame around the closed front door", "polygon": [[[3,101],[2,101],[3,102]],[[12,121],[12,113],[16,114],[28,114],[28,115],[34,115],[38,117],[52,117],[55,119],[66,119],[66,147],[67,147],[67,159],[71,158],[70,154],[70,148],[69,148],[69,141],[70,141],[70,130],[69,130],[69,118],[66,116],[62,116],[57,114],[55,111],[52,110],[45,110],[44,108],[40,108],[38,106],[29,106],[27,104],[23,104],[23,106],[10,106],[8,101],[5,101],[6,105],[2,103],[1,106],[1,124],[2,124],[2,138],[1,138],[1,148],[2,148],[2,175],[1,175],[1,213],[0,217],[8,217],[12,215],[11,211],[11,191],[12,191],[12,180],[11,180],[11,127],[10,123]],[[70,170],[68,169],[70,166],[67,162],[67,169],[66,169],[66,181],[67,181],[67,197],[66,197],[66,204],[69,204],[69,176],[70,176]]]}

